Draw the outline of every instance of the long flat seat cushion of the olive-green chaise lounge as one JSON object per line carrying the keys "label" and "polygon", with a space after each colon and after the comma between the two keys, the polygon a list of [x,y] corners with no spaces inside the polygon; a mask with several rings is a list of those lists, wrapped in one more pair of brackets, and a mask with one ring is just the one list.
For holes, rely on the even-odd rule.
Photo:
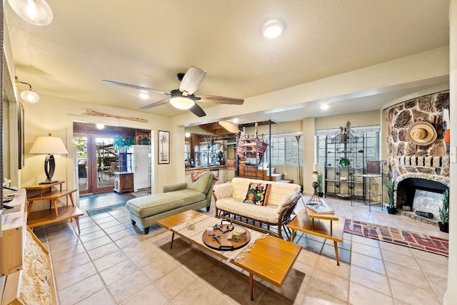
{"label": "long flat seat cushion of the olive-green chaise lounge", "polygon": [[[206,175],[205,175],[206,176]],[[212,179],[212,175],[211,179]],[[149,217],[154,214],[174,210],[205,200],[206,195],[196,190],[179,190],[138,197],[127,201],[126,208],[138,217]]]}

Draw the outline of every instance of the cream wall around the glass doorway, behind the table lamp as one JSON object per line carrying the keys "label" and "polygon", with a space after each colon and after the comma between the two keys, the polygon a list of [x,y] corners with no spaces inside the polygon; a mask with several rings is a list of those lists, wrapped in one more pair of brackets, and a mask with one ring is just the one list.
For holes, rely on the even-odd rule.
{"label": "cream wall around the glass doorway, behind the table lamp", "polygon": [[[64,187],[76,188],[76,175],[74,167],[74,150],[73,145],[73,121],[82,121],[87,123],[104,123],[106,125],[124,126],[129,128],[140,128],[153,130],[154,153],[156,152],[157,130],[174,130],[169,124],[169,118],[149,113],[131,111],[125,109],[110,108],[101,105],[76,102],[75,100],[66,100],[52,95],[40,95],[39,103],[23,103],[25,110],[25,167],[21,170],[21,186],[36,185],[46,179],[44,174],[44,155],[29,154],[31,145],[37,137],[51,133],[53,136],[60,137],[66,144],[69,155],[62,155],[56,159],[56,172],[54,179],[65,180]],[[90,108],[101,113],[109,115],[122,115],[130,118],[146,119],[147,123],[137,122],[124,118],[107,118],[102,116],[83,115],[86,108]],[[171,133],[171,137],[174,134]],[[171,151],[174,143],[171,143]],[[156,192],[163,185],[176,182],[174,167],[176,167],[176,155],[171,156],[169,165],[157,165],[157,155],[154,154],[154,185]],[[184,168],[184,165],[183,165]],[[41,204],[41,205],[40,205]],[[47,202],[40,202],[35,205],[34,210],[43,210],[47,208]]]}

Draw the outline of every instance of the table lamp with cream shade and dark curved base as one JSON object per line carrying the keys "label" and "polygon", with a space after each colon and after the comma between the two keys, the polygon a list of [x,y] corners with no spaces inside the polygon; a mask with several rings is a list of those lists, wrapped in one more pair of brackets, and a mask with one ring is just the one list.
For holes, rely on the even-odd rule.
{"label": "table lamp with cream shade and dark curved base", "polygon": [[52,180],[54,170],[56,169],[54,154],[69,153],[66,150],[62,139],[58,137],[51,137],[51,133],[49,133],[49,137],[38,137],[36,138],[34,145],[31,146],[29,153],[46,154],[46,158],[44,159],[44,172],[46,173],[46,181],[40,182],[40,184],[43,185],[57,182]]}

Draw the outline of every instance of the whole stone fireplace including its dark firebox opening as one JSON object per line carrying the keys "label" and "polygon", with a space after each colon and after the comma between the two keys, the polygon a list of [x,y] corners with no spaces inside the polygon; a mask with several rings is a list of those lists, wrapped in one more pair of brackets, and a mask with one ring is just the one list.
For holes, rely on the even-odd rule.
{"label": "whole stone fireplace including its dark firebox opening", "polygon": [[[449,187],[449,146],[443,138],[443,106],[449,104],[449,91],[406,100],[386,109],[388,177],[395,182],[398,209],[421,209],[438,221],[442,194]],[[436,140],[428,145],[413,143],[409,126],[430,123]]]}

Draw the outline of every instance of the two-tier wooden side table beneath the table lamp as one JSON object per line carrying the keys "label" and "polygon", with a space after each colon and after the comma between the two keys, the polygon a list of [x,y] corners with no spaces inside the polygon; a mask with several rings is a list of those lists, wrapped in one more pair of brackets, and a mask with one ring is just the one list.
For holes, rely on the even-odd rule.
{"label": "two-tier wooden side table beneath the table lamp", "polygon": [[[49,184],[31,185],[29,187],[24,187],[27,192],[28,202],[27,225],[31,229],[34,227],[42,226],[44,224],[61,222],[66,219],[74,218],[78,227],[78,232],[81,232],[79,229],[78,217],[84,215],[84,213],[74,205],[73,193],[76,192],[76,189],[62,190],[63,183],[64,181],[58,181]],[[66,197],[67,195],[70,197],[71,207],[68,205],[68,202],[66,207],[57,207],[57,200],[61,197]],[[31,207],[34,204],[34,201],[37,200],[49,200],[49,210],[31,212]],[[53,205],[54,210],[52,210]]]}

